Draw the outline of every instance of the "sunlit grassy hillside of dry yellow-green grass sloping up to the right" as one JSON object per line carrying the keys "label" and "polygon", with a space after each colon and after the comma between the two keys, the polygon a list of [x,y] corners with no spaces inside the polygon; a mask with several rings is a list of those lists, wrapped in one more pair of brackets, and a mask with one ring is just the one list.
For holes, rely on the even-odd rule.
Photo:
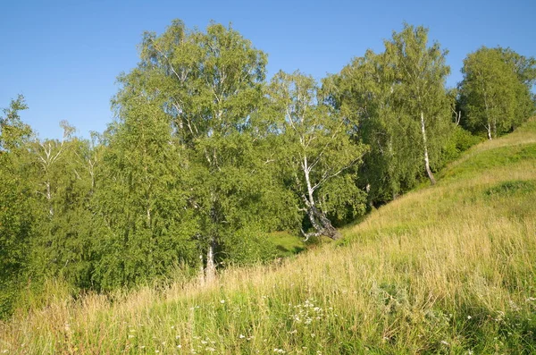
{"label": "sunlit grassy hillside of dry yellow-green grass sloping up to the right", "polygon": [[0,353],[536,352],[535,121],[343,232],[211,286],[56,290],[0,325]]}

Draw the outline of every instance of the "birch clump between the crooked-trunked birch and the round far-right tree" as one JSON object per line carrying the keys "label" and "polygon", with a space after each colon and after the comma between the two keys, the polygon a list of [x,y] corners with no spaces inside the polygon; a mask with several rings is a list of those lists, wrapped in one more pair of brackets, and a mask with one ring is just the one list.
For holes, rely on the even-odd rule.
{"label": "birch clump between the crooked-trunked birch and the round far-right tree", "polygon": [[383,203],[411,189],[425,173],[425,158],[438,170],[448,157],[452,97],[445,89],[449,67],[428,30],[405,25],[385,41],[385,51],[367,51],[323,81],[328,102],[355,127],[353,138],[369,147],[358,174],[370,203]]}

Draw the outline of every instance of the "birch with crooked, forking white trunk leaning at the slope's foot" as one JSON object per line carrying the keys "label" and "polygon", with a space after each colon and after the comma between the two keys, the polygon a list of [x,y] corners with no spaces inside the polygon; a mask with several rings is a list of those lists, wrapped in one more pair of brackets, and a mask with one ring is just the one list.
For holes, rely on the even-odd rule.
{"label": "birch with crooked, forking white trunk leaning at the slope's foot", "polygon": [[341,235],[328,215],[344,220],[364,211],[364,193],[354,182],[364,147],[351,139],[350,122],[323,104],[312,77],[279,72],[268,96],[280,164],[314,228],[302,233],[337,240]]}

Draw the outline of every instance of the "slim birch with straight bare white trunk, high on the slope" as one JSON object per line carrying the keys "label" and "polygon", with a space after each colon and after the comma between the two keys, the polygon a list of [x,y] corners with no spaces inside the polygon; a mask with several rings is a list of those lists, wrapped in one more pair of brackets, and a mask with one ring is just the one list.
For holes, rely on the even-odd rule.
{"label": "slim birch with straight bare white trunk, high on the slope", "polygon": [[445,80],[450,68],[445,63],[447,51],[434,42],[428,46],[428,30],[405,24],[385,41],[385,54],[393,73],[393,95],[397,105],[420,125],[423,167],[431,183],[431,155],[440,155],[448,138],[450,102]]}

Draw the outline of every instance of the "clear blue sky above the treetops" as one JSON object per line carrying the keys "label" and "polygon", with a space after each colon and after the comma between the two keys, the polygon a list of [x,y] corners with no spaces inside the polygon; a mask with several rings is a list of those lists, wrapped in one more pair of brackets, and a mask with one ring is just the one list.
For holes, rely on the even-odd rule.
{"label": "clear blue sky above the treetops", "polygon": [[4,1],[0,7],[0,107],[23,94],[22,114],[41,138],[59,138],[67,120],[78,134],[112,122],[115,78],[138,62],[144,30],[162,33],[172,19],[205,29],[228,24],[268,53],[269,76],[296,69],[320,79],[382,40],[403,21],[430,28],[449,51],[448,86],[479,46],[510,46],[536,56],[536,1]]}

